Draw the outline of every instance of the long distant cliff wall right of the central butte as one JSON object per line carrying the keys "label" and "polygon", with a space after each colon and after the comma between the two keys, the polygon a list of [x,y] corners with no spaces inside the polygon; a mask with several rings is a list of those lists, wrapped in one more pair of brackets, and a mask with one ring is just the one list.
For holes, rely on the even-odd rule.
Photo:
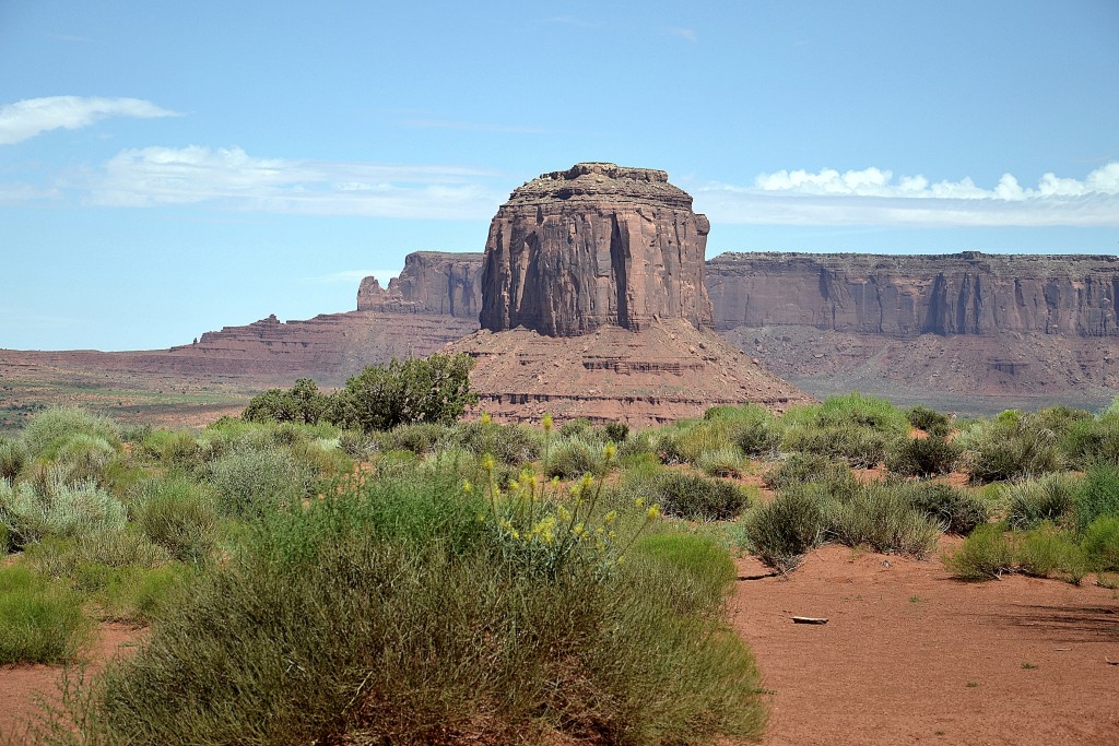
{"label": "long distant cliff wall right of the central butte", "polygon": [[722,254],[707,290],[717,329],[1119,336],[1117,256]]}

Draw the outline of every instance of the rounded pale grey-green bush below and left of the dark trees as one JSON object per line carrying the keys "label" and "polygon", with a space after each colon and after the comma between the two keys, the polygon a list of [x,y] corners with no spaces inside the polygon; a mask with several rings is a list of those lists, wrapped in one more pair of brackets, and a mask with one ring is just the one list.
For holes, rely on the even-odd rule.
{"label": "rounded pale grey-green bush below and left of the dark trees", "polygon": [[219,511],[258,517],[303,497],[310,475],[301,473],[289,451],[269,448],[222,456],[208,465],[206,479],[217,495]]}

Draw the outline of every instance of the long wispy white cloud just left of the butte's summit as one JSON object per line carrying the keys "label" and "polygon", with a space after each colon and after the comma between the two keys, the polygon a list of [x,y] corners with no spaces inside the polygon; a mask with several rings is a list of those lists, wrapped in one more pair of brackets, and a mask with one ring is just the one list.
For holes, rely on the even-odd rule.
{"label": "long wispy white cloud just left of the butte's summit", "polygon": [[386,166],[257,158],[239,148],[124,150],[68,186],[100,207],[209,205],[232,211],[488,219],[506,190],[493,173],[450,166]]}

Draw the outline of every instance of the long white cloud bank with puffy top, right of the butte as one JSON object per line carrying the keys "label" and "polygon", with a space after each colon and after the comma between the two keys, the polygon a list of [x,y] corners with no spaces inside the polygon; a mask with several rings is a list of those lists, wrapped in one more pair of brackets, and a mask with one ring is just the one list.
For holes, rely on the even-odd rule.
{"label": "long white cloud bank with puffy top, right of the butte", "polygon": [[894,179],[867,168],[762,173],[750,186],[693,188],[713,220],[772,225],[1119,226],[1119,162],[1084,179],[1045,173],[1024,187],[1010,173],[984,188],[970,178]]}

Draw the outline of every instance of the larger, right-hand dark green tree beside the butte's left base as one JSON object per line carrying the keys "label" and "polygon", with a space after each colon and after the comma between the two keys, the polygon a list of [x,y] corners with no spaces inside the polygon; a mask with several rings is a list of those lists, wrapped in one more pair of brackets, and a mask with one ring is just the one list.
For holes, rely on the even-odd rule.
{"label": "larger, right-hand dark green tree beside the butte's left base", "polygon": [[347,428],[392,429],[407,423],[450,424],[478,403],[470,390],[473,358],[440,355],[369,366],[333,396],[328,417]]}

